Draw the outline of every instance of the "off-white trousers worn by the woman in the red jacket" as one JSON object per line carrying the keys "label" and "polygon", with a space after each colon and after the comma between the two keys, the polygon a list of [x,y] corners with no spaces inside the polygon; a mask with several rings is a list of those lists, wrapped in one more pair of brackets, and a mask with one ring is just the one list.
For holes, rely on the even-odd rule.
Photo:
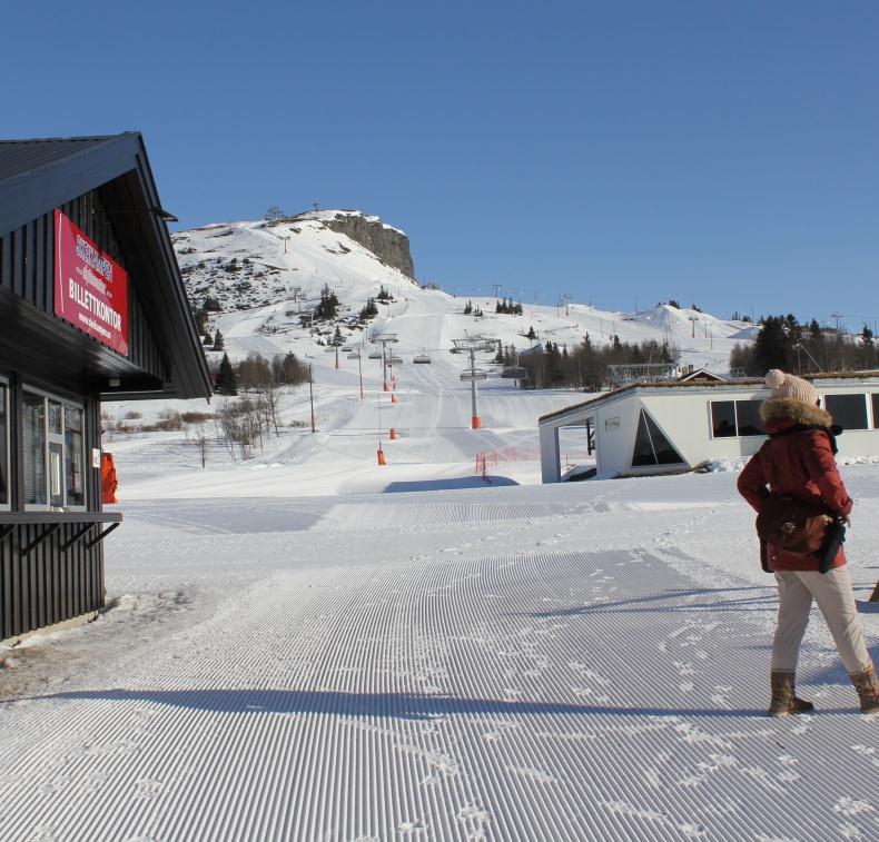
{"label": "off-white trousers worn by the woman in the red jacket", "polygon": [[812,600],[824,615],[839,656],[849,673],[860,673],[872,665],[858,618],[855,593],[846,565],[827,573],[817,571],[779,571],[778,627],[772,641],[772,668],[796,672],[800,643],[809,625]]}

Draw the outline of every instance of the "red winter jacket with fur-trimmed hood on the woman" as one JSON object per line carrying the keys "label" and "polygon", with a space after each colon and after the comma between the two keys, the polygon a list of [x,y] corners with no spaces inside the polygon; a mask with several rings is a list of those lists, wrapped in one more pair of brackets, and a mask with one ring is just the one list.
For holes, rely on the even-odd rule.
{"label": "red winter jacket with fur-trimmed hood on the woman", "polygon": [[[823,501],[831,514],[848,517],[852,502],[833,458],[830,414],[801,400],[769,398],[760,407],[760,415],[770,438],[739,475],[742,497],[758,513],[772,491],[809,503]],[[780,433],[784,435],[773,438]],[[784,553],[773,544],[768,547],[768,558],[773,571],[818,569],[817,559]],[[845,563],[846,554],[840,547],[833,567]]]}

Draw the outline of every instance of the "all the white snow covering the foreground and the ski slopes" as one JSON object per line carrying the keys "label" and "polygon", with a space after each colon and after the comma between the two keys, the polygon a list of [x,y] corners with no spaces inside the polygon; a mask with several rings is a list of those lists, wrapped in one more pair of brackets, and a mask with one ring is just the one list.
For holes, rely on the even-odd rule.
{"label": "all the white snow covering the foreground and the ski slopes", "polygon": [[[235,248],[274,236],[231,224],[178,248],[227,229],[216,242]],[[350,261],[343,303],[391,283],[355,245],[349,262],[299,266],[308,295]],[[218,324],[233,356],[313,361],[316,434],[293,426],[309,418],[299,388],[283,395],[279,436],[247,460],[211,442],[203,469],[197,425],[113,427],[216,406],[108,406],[125,513],[107,539],[108,608],[0,651],[0,840],[879,838],[879,717],[856,713],[820,621],[799,676],[819,712],[763,715],[776,592],[735,493],[741,465],[542,486],[536,418],[584,396],[490,379],[486,428],[468,429],[448,346],[474,319],[443,293],[392,291],[371,329],[433,358],[399,367],[397,404],[367,359],[361,400],[356,360],[337,370],[285,315],[286,290],[241,309],[229,286]],[[533,320],[562,341],[613,316],[531,309],[486,333],[507,341]],[[669,308],[616,316],[624,339],[692,329]],[[710,364],[710,341],[694,363]],[[587,464],[567,444],[566,462]],[[842,474],[863,598],[879,575],[879,466]],[[876,656],[877,606],[861,610]]]}

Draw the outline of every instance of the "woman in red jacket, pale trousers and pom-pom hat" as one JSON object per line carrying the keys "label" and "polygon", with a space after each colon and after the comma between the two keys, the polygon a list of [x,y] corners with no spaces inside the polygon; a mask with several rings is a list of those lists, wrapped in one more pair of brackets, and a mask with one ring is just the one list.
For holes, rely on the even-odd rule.
{"label": "woman in red jacket, pale trousers and pom-pom hat", "polygon": [[[758,513],[771,491],[822,504],[828,515],[848,523],[852,502],[833,458],[837,448],[830,429],[832,418],[818,406],[818,393],[807,380],[778,369],[766,376],[766,383],[772,388],[772,396],[763,402],[760,415],[769,440],[739,475],[739,493]],[[787,716],[814,710],[810,702],[798,699],[794,684],[812,600],[818,603],[855,684],[861,712],[879,712],[879,680],[863,642],[842,547],[827,573],[818,572],[817,558],[792,555],[773,544],[766,547],[766,557],[779,591],[769,714]]]}

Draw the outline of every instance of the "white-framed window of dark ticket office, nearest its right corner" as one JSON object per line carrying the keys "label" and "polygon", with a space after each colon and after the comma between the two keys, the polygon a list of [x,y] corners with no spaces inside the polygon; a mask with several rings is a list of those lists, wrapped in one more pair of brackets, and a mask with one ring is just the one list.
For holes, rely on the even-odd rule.
{"label": "white-framed window of dark ticket office, nearest its right corner", "polygon": [[24,392],[22,405],[24,504],[68,508],[86,505],[82,407]]}

